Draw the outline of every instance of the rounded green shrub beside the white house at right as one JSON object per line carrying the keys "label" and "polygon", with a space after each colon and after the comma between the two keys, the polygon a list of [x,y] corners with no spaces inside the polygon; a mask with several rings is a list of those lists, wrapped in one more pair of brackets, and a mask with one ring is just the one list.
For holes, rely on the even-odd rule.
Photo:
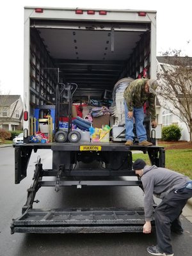
{"label": "rounded green shrub beside the white house at right", "polygon": [[178,141],[181,137],[182,129],[177,125],[170,125],[162,128],[162,140]]}

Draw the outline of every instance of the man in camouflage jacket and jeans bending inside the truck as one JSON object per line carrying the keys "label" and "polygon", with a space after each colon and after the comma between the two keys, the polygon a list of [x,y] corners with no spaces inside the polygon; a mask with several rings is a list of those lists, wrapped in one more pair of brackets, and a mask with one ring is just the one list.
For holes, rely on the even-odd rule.
{"label": "man in camouflage jacket and jeans bending inside the truck", "polygon": [[156,79],[147,79],[145,77],[132,81],[124,92],[125,107],[125,128],[126,143],[132,145],[134,138],[133,124],[136,125],[136,134],[140,146],[151,146],[152,143],[147,141],[147,133],[143,125],[144,111],[143,106],[148,101],[148,108],[152,120],[152,127],[157,126],[156,122]]}

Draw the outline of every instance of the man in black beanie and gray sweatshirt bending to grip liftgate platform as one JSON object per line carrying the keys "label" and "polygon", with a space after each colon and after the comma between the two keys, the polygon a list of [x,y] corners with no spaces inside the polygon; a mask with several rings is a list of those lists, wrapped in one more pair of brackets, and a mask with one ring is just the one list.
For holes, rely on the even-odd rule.
{"label": "man in black beanie and gray sweatshirt bending to grip liftgate platform", "polygon": [[179,216],[183,207],[192,196],[192,180],[188,177],[157,167],[147,166],[143,159],[132,164],[136,174],[141,177],[144,196],[145,225],[143,233],[151,232],[153,195],[162,199],[155,210],[157,245],[149,246],[147,252],[152,255],[172,256],[171,231],[181,234]]}

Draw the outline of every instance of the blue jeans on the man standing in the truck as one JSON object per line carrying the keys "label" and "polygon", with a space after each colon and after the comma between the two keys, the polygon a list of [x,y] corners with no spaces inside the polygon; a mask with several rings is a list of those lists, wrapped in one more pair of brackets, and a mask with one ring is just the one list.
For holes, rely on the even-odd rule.
{"label": "blue jeans on the man standing in the truck", "polygon": [[143,125],[143,120],[144,120],[143,107],[133,108],[132,118],[129,118],[127,116],[128,108],[125,100],[124,100],[124,108],[125,108],[125,129],[126,129],[125,139],[131,140],[131,141],[134,139],[134,132],[132,130],[133,130],[133,124],[135,122],[136,134],[138,136],[139,142],[143,140],[147,140],[145,126]]}

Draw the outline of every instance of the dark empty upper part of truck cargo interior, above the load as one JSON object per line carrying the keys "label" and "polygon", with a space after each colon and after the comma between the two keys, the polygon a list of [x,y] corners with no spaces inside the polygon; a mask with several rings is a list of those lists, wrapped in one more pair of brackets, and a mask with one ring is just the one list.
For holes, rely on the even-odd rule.
{"label": "dark empty upper part of truck cargo interior, above the load", "polygon": [[101,99],[123,77],[136,78],[143,68],[150,76],[150,24],[32,19],[31,51],[32,63],[39,61],[43,74],[51,74],[56,83],[77,84],[74,99]]}

